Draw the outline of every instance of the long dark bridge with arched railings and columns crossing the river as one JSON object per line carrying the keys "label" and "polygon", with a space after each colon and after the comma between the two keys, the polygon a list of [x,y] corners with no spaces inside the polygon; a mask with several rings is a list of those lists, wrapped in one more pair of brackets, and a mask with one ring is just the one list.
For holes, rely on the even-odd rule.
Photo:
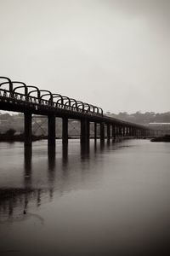
{"label": "long dark bridge with arched railings and columns crossing the river", "polygon": [[25,147],[31,147],[31,119],[33,114],[48,116],[48,146],[55,146],[55,118],[62,119],[62,142],[68,143],[68,120],[76,119],[81,123],[81,143],[88,145],[90,124],[94,123],[94,140],[97,139],[99,125],[100,141],[112,137],[148,137],[150,129],[120,119],[106,116],[103,109],[87,102],[77,101],[68,96],[40,90],[35,85],[12,81],[0,77],[0,109],[24,113]]}

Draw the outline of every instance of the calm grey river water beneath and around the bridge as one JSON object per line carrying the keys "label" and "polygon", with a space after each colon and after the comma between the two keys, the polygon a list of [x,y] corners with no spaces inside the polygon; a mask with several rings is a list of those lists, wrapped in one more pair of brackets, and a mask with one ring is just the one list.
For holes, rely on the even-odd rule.
{"label": "calm grey river water beneath and around the bridge", "polygon": [[0,255],[168,255],[169,157],[147,140],[0,143]]}

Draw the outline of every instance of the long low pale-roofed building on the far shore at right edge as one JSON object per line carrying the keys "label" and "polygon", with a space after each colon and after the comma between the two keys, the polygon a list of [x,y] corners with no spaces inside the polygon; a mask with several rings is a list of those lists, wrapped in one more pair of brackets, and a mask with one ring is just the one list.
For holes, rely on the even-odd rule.
{"label": "long low pale-roofed building on the far shore at right edge", "polygon": [[153,129],[154,136],[170,135],[170,123],[150,123],[149,127]]}

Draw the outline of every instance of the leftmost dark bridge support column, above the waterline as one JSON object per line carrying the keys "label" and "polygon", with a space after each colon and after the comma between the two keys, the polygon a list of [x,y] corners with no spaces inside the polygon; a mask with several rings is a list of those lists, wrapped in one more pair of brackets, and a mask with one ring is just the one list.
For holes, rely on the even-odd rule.
{"label": "leftmost dark bridge support column, above the waterline", "polygon": [[25,147],[31,147],[31,113],[24,113]]}

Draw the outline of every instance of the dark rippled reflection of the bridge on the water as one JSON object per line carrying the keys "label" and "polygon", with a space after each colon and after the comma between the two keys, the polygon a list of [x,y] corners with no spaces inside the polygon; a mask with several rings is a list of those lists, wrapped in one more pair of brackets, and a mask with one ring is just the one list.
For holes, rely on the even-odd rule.
{"label": "dark rippled reflection of the bridge on the water", "polygon": [[[89,170],[90,158],[94,158],[97,165],[99,153],[102,153],[106,146],[105,143],[94,143],[88,148],[82,145],[79,154],[72,155],[69,153],[68,144],[63,144],[62,155],[59,158],[54,147],[48,147],[48,168],[46,171],[48,181],[46,186],[41,183],[35,185],[34,175],[37,173],[37,169],[32,165],[32,149],[30,147],[25,148],[23,186],[20,188],[0,188],[0,216],[13,218],[14,209],[22,214],[28,211],[30,202],[40,207],[43,202],[47,201],[47,198],[49,201],[53,200],[54,191],[57,190],[58,194],[62,195],[62,191],[65,189],[75,189],[77,186],[73,179],[75,172],[78,172],[81,179],[85,178],[86,171]],[[76,163],[78,163],[77,167]],[[85,171],[80,172],[80,170]],[[41,179],[41,176],[39,178]]]}

